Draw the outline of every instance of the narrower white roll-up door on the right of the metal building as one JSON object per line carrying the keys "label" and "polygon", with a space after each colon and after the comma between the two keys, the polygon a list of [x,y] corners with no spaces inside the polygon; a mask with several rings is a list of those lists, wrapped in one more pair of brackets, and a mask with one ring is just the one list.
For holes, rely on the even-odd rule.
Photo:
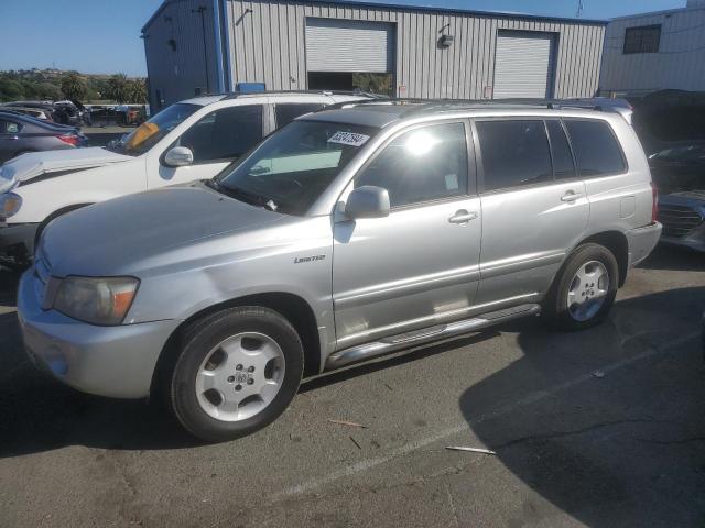
{"label": "narrower white roll-up door on the right of the metal building", "polygon": [[519,31],[497,35],[495,99],[551,97],[553,36]]}

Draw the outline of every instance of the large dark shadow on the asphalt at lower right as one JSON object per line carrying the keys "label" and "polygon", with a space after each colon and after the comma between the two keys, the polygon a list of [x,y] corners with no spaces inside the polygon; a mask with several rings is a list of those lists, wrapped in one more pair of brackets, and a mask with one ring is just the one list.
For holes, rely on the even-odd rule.
{"label": "large dark shadow on the asphalt at lower right", "polygon": [[522,321],[522,359],[458,402],[481,444],[535,493],[522,521],[551,525],[558,508],[588,526],[699,526],[704,310],[705,287],[693,287],[618,301],[579,333]]}

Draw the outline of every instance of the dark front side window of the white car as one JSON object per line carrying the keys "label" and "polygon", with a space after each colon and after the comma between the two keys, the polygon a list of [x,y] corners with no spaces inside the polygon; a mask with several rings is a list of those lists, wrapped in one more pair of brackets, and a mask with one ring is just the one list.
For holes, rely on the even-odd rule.
{"label": "dark front side window of the white car", "polygon": [[210,112],[181,136],[195,163],[232,160],[262,139],[262,106],[239,105]]}

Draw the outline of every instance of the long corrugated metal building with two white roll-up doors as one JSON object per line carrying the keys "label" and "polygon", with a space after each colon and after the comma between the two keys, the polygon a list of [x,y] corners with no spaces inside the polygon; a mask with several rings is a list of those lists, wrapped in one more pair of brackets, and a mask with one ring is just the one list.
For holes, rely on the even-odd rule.
{"label": "long corrugated metal building with two white roll-up doors", "polygon": [[398,97],[564,98],[596,92],[605,25],[401,4],[166,0],[142,37],[155,108],[249,82],[352,89],[370,78]]}

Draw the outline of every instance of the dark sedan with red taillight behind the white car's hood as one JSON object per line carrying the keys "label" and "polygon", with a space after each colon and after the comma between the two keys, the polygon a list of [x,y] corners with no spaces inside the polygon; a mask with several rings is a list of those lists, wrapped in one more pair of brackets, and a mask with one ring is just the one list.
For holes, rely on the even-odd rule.
{"label": "dark sedan with red taillight behind the white car's hood", "polygon": [[18,112],[0,111],[0,163],[25,152],[87,145],[88,139],[74,127],[47,123]]}

